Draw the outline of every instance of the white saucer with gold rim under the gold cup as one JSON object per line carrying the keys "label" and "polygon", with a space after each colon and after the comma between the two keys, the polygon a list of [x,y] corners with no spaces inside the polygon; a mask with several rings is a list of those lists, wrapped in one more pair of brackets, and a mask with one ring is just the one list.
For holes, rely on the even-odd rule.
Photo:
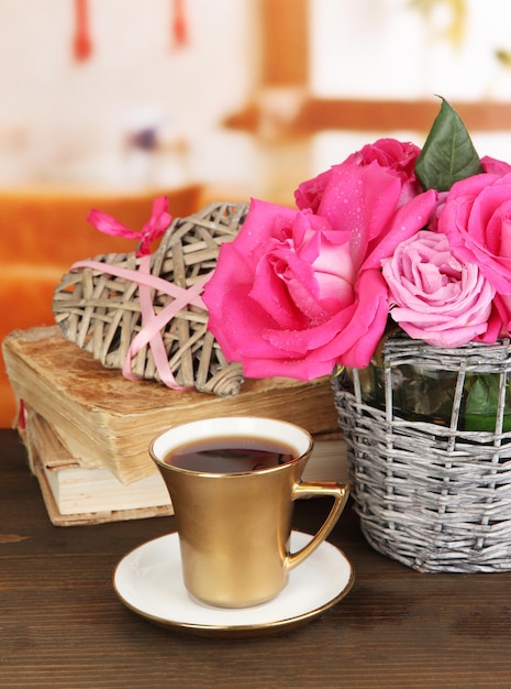
{"label": "white saucer with gold rim under the gold cup", "polygon": [[[292,551],[310,540],[292,532]],[[324,542],[289,573],[285,590],[254,608],[223,609],[195,602],[181,578],[177,533],[138,546],[119,562],[113,588],[121,601],[151,622],[193,634],[248,636],[290,627],[334,605],[352,588],[353,568],[345,555]]]}

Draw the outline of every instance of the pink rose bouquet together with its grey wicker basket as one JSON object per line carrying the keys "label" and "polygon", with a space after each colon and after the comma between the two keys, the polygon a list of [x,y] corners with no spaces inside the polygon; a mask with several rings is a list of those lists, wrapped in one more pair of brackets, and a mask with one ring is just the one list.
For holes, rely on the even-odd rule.
{"label": "pink rose bouquet together with its grey wicker basket", "polygon": [[442,101],[420,150],[381,139],[253,200],[205,286],[253,378],[332,390],[367,540],[420,571],[511,569],[511,166]]}

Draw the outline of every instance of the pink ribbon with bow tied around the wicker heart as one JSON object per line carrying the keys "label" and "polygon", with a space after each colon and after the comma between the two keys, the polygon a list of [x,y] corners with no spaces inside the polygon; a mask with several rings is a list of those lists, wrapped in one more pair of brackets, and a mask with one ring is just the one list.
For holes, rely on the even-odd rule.
{"label": "pink ribbon with bow tied around the wicker heart", "polygon": [[[153,203],[152,218],[143,227],[141,232],[135,232],[126,228],[107,214],[99,210],[91,210],[87,219],[101,232],[115,237],[140,239],[136,253],[136,256],[140,259],[138,270],[131,270],[93,260],[78,261],[71,265],[71,270],[88,267],[93,271],[99,271],[100,273],[108,273],[109,275],[134,282],[138,285],[143,327],[133,338],[127,350],[126,359],[122,368],[124,378],[131,381],[140,380],[140,376],[135,375],[132,371],[132,359],[136,357],[143,347],[148,344],[153,352],[156,370],[159,373],[162,382],[173,390],[189,390],[179,385],[173,375],[167,352],[165,351],[162,331],[165,326],[188,305],[197,306],[205,310],[205,305],[200,295],[202,294],[205,283],[212,276],[213,271],[200,277],[191,287],[188,287],[188,289],[151,274],[149,244],[153,240],[160,237],[170,225],[171,217],[168,215],[167,208],[168,200],[164,196],[155,199]],[[152,289],[157,289],[173,297],[173,300],[167,304],[159,314],[156,314],[154,310]]]}

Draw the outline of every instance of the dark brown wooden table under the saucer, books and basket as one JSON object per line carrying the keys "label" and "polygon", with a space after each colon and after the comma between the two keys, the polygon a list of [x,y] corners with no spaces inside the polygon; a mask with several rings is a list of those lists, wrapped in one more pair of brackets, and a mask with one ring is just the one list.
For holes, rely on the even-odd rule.
{"label": "dark brown wooden table under the saucer, books and basket", "polygon": [[[296,527],[313,531],[326,507],[302,501]],[[0,430],[0,517],[1,687],[511,687],[511,573],[415,572],[375,553],[351,507],[330,537],[355,568],[348,595],[247,639],[189,636],[127,610],[112,571],[173,518],[53,526],[12,430]]]}

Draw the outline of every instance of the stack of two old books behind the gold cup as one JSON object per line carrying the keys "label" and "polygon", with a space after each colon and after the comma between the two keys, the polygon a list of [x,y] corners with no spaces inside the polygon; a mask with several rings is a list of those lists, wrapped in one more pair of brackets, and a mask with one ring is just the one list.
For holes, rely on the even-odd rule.
{"label": "stack of two old books behind the gold cup", "polygon": [[247,380],[232,397],[127,381],[64,338],[58,327],[14,331],[2,344],[16,426],[55,525],[171,514],[148,455],[176,424],[211,416],[271,416],[316,439],[306,480],[346,481],[344,442],[327,379]]}

